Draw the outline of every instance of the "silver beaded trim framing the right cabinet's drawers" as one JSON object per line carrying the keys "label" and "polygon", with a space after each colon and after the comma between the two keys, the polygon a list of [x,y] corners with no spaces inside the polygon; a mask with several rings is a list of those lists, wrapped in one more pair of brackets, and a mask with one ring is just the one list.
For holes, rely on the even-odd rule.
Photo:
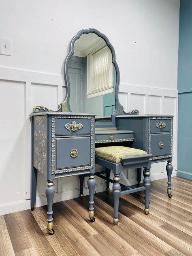
{"label": "silver beaded trim framing the right cabinet's drawers", "polygon": [[164,159],[164,158],[170,158],[172,157],[172,145],[173,145],[173,117],[149,117],[149,154],[151,154],[151,120],[171,120],[171,129],[170,129],[170,155],[166,156],[154,156],[150,157],[149,160],[158,160],[158,159]]}

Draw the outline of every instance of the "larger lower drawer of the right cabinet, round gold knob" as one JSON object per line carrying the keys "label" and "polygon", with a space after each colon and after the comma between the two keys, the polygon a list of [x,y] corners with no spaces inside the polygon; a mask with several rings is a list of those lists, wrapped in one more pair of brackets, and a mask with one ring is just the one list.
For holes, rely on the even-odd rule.
{"label": "larger lower drawer of the right cabinet, round gold knob", "polygon": [[163,156],[171,154],[170,133],[151,134],[151,154]]}

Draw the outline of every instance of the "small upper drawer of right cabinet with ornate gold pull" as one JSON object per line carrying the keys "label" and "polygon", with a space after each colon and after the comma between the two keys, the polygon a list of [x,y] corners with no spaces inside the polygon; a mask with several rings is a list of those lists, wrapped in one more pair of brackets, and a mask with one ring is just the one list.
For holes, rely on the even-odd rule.
{"label": "small upper drawer of right cabinet with ornate gold pull", "polygon": [[151,119],[151,132],[170,132],[171,119]]}

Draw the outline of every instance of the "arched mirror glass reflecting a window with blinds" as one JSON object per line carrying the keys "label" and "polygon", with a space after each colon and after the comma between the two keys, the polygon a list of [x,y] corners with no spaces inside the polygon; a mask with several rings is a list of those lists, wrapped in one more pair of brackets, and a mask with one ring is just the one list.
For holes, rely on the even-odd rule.
{"label": "arched mirror glass reflecting a window with blinds", "polygon": [[110,116],[115,111],[116,71],[106,42],[94,33],[75,41],[68,64],[70,109]]}

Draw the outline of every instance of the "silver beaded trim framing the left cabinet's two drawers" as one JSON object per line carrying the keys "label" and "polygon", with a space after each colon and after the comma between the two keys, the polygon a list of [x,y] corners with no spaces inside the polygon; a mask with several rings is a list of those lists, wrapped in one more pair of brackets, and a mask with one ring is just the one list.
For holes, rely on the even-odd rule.
{"label": "silver beaded trim framing the left cabinet's two drawers", "polygon": [[[55,170],[55,119],[56,118],[91,119],[91,145],[90,145],[90,147],[91,147],[91,165]],[[68,173],[68,172],[74,172],[74,171],[84,171],[84,170],[93,169],[93,167],[94,167],[94,116],[51,115],[51,174]]]}

